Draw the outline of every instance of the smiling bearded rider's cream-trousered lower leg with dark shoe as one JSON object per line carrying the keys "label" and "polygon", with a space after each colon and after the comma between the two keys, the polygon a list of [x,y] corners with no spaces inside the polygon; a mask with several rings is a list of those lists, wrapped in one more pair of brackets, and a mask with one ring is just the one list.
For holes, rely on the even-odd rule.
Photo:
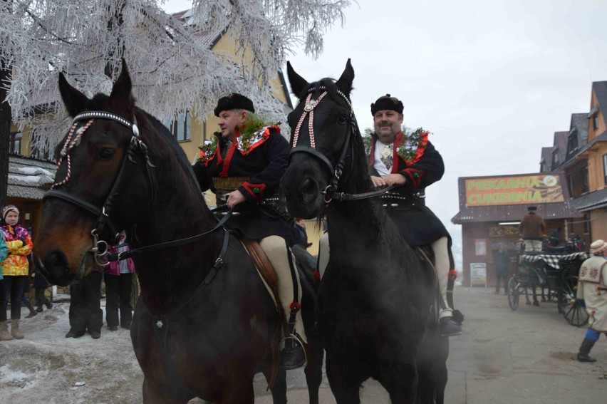
{"label": "smiling bearded rider's cream-trousered lower leg with dark shoe", "polygon": [[439,314],[438,329],[440,336],[458,336],[462,333],[462,327],[453,319],[453,309],[448,306],[447,282],[449,281],[450,259],[447,237],[441,237],[432,243],[434,250],[435,268],[438,276],[438,287],[445,302],[445,308]]}

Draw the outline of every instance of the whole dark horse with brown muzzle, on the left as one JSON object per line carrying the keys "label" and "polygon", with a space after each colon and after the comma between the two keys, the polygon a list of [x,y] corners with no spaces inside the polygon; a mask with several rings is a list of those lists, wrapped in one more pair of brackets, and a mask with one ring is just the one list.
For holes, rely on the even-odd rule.
{"label": "whole dark horse with brown muzzle, on the left", "polygon": [[[125,63],[109,96],[88,99],[59,76],[74,123],[45,195],[38,268],[53,284],[81,279],[103,244],[128,229],[141,286],[131,338],[143,401],[254,403],[261,370],[274,403],[286,403],[274,301],[239,240],[207,208],[177,141],[135,107],[131,86]],[[306,374],[318,403],[318,356],[308,354]]]}

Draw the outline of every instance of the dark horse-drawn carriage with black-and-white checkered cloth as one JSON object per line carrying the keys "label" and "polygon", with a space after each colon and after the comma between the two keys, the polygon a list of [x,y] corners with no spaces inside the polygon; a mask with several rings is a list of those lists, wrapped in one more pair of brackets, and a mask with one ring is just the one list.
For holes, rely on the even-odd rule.
{"label": "dark horse-drawn carriage with black-and-white checkered cloth", "polygon": [[559,313],[572,326],[588,323],[588,314],[576,304],[578,272],[582,262],[590,257],[587,252],[559,254],[551,252],[521,252],[517,256],[517,273],[508,282],[508,304],[517,310],[520,296],[526,304],[539,306],[536,288],[541,288],[542,301],[556,301]]}

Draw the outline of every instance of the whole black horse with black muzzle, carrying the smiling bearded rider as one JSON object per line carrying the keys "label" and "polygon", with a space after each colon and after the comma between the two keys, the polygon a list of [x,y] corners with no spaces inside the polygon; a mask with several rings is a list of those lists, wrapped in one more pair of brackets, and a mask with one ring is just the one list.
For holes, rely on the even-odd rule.
{"label": "whole black horse with black muzzle, carrying the smiling bearded rider", "polygon": [[360,386],[372,377],[393,403],[442,402],[448,344],[431,313],[436,277],[372,198],[351,107],[351,63],[338,81],[308,83],[290,63],[287,72],[299,104],[289,115],[281,200],[296,217],[326,211],[331,257],[317,310],[333,395],[339,404],[359,403]]}

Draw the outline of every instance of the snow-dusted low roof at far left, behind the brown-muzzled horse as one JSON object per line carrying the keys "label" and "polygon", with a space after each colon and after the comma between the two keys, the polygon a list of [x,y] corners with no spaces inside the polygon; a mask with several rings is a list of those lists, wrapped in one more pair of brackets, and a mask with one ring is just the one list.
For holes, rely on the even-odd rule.
{"label": "snow-dusted low roof at far left, behind the brown-muzzled horse", "polygon": [[57,170],[54,162],[21,155],[9,156],[8,197],[42,200],[44,192],[53,184]]}

